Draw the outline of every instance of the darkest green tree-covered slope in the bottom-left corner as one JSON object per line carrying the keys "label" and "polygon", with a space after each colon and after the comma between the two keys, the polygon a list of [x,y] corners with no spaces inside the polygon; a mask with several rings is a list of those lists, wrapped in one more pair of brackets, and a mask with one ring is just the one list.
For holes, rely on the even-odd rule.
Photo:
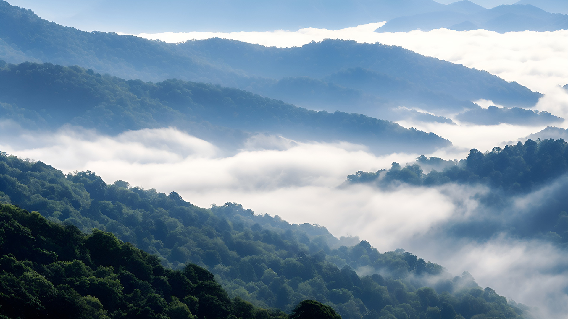
{"label": "darkest green tree-covered slope in the bottom-left corner", "polygon": [[197,265],[171,270],[95,229],[0,204],[2,318],[287,318],[227,292]]}

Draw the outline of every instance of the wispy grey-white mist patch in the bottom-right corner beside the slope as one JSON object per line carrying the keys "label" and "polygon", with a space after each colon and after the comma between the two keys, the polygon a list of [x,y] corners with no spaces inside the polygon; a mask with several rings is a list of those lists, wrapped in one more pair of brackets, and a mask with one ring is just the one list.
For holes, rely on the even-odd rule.
{"label": "wispy grey-white mist patch in the bottom-right corner beside the slope", "polygon": [[[442,249],[435,251],[428,244]],[[412,246],[409,243],[407,250]],[[456,249],[448,249],[448,246]],[[442,251],[443,248],[446,251]],[[458,245],[425,240],[414,245],[414,249],[424,257],[442,259],[444,267],[453,274],[460,274],[465,269],[479,286],[491,287],[517,303],[538,307],[533,310],[537,318],[562,318],[568,314],[565,292],[568,255],[548,242],[498,236],[487,242],[461,242]]]}

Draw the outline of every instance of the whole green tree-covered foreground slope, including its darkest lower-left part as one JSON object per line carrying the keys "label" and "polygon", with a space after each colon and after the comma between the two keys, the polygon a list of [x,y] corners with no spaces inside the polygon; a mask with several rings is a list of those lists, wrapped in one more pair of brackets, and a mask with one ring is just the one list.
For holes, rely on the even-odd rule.
{"label": "whole green tree-covered foreground slope, including its darkest lower-left part", "polygon": [[204,209],[176,192],[107,184],[90,171],[64,175],[4,152],[0,202],[0,314],[8,316],[285,318],[252,304],[290,312],[310,299],[343,318],[531,317],[469,272],[452,276],[403,249],[380,253],[320,225],[235,203]]}

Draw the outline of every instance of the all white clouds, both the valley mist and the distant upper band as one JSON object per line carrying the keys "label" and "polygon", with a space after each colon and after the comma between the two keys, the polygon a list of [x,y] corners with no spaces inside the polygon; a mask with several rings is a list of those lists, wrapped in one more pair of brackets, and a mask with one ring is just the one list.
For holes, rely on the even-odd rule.
{"label": "all white clouds, both the valley mist and the distant upper band", "polygon": [[[568,31],[496,33],[485,30],[373,32],[382,23],[330,31],[160,33],[140,35],[170,42],[212,36],[279,47],[325,38],[400,45],[418,53],[487,70],[546,94],[534,107],[568,118]],[[491,101],[478,101],[484,107]],[[503,141],[516,141],[544,126],[458,125],[401,122],[435,132],[453,142],[426,156],[461,159],[471,148],[482,152]],[[565,121],[560,126],[566,128]],[[540,239],[517,238],[507,232],[484,238],[460,238],[448,225],[479,213],[472,187],[399,186],[381,190],[345,184],[358,170],[376,171],[402,165],[421,154],[375,156],[364,145],[296,142],[285,137],[255,135],[239,152],[227,156],[217,145],[177,128],[143,129],[102,136],[80,127],[37,132],[0,121],[0,149],[34,158],[65,173],[91,170],[107,182],[177,191],[202,207],[225,202],[243,204],[256,213],[279,215],[290,223],[320,224],[335,236],[351,234],[379,251],[403,248],[448,268],[469,271],[483,287],[540,308],[541,317],[568,314],[568,257]],[[536,196],[536,195],[535,195]],[[538,200],[537,197],[534,197]]]}

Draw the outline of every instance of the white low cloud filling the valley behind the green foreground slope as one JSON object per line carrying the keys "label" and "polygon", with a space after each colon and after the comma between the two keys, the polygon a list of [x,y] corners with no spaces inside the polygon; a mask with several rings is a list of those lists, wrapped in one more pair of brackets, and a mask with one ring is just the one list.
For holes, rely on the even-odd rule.
{"label": "white low cloud filling the valley behind the green foreground slope", "polygon": [[[465,186],[379,190],[344,184],[346,175],[357,170],[376,171],[394,161],[404,165],[420,154],[377,157],[365,146],[346,142],[296,142],[256,135],[246,149],[225,156],[210,142],[174,128],[129,131],[115,137],[74,127],[55,133],[20,129],[10,136],[6,129],[15,128],[9,124],[0,125],[0,149],[41,160],[65,173],[91,170],[107,183],[120,179],[161,192],[177,191],[202,207],[236,202],[290,223],[321,224],[335,236],[359,236],[380,251],[402,247],[455,275],[470,271],[481,286],[491,286],[517,303],[538,305],[550,311],[546,314],[562,313],[566,285],[559,278],[566,275],[566,263],[561,250],[507,234],[482,241],[448,237],[445,225],[474,215],[479,209],[475,194],[487,190]],[[492,147],[499,139],[534,132],[531,127],[494,125],[493,129],[511,132],[491,137],[489,131],[477,140]],[[468,143],[461,141],[461,145]],[[438,151],[458,159],[467,152],[465,147]],[[550,271],[551,267],[561,271]]]}

